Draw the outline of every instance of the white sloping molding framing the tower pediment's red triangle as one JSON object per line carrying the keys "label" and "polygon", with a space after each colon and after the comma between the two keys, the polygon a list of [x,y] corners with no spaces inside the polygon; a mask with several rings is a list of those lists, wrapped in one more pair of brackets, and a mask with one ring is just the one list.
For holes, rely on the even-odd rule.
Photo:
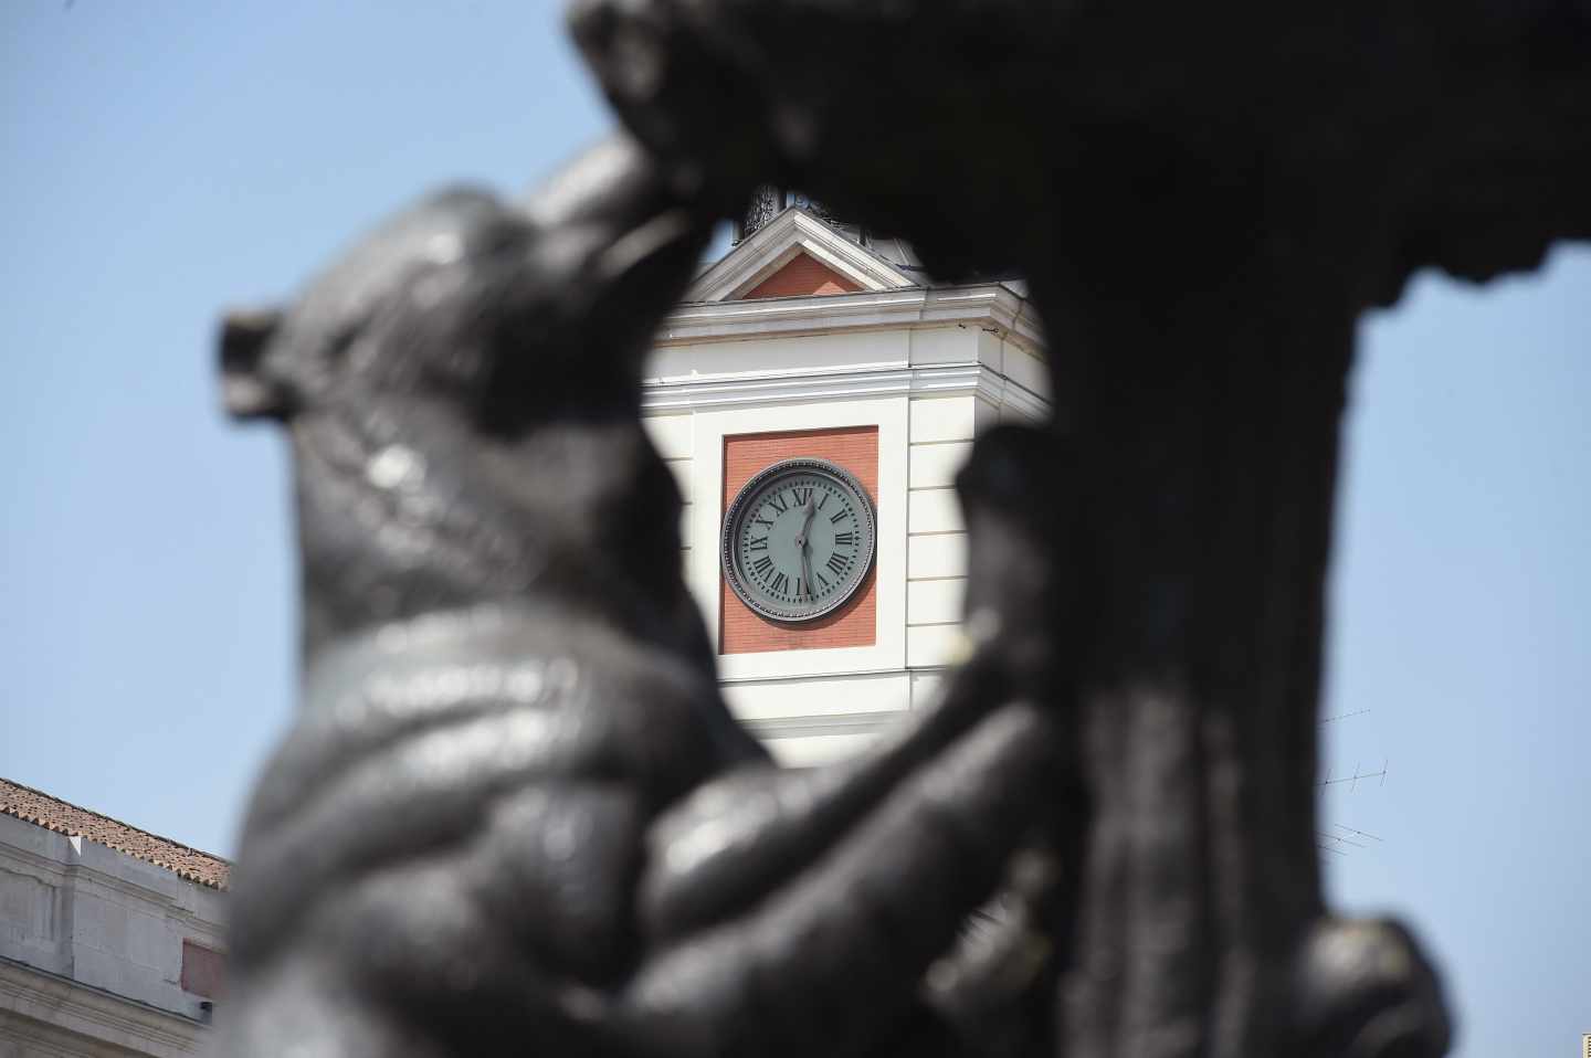
{"label": "white sloping molding framing the tower pediment's red triangle", "polygon": [[915,286],[916,280],[811,213],[792,207],[764,224],[697,277],[687,298],[724,302],[740,298],[799,253],[826,264],[867,291]]}

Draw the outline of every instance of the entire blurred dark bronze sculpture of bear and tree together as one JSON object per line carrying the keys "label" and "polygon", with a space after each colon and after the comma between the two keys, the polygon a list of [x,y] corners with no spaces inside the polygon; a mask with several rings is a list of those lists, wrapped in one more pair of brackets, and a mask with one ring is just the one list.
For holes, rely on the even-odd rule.
{"label": "entire blurred dark bronze sculpture of bear and tree together", "polygon": [[[1321,894],[1344,380],[1411,270],[1591,234],[1591,3],[573,25],[625,135],[224,328],[231,409],[293,442],[307,659],[228,1053],[1443,1053],[1414,940]],[[958,482],[945,700],[811,773],[724,708],[638,422],[654,325],[768,183],[1021,270],[1060,401]]]}

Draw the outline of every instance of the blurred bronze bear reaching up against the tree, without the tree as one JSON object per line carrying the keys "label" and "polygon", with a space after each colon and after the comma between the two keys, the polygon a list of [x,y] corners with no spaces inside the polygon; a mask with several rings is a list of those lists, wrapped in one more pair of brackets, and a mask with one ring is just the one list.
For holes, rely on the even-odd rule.
{"label": "blurred bronze bear reaching up against the tree, without the tree", "polygon": [[[920,991],[1042,848],[1042,624],[988,600],[928,724],[768,764],[638,420],[711,223],[652,172],[616,140],[523,210],[433,196],[224,328],[228,406],[293,442],[305,603],[304,711],[237,872],[231,1053],[942,1048],[936,1002],[1002,1002],[975,967]],[[1020,496],[990,500],[974,523],[1009,536]]]}

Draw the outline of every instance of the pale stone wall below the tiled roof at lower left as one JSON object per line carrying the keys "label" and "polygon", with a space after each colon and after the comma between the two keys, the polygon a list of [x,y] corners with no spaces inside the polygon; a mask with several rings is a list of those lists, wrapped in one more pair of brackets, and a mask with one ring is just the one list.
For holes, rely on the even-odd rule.
{"label": "pale stone wall below the tiled roof at lower left", "polygon": [[183,940],[224,950],[226,896],[0,816],[0,1058],[186,1055],[205,1034]]}

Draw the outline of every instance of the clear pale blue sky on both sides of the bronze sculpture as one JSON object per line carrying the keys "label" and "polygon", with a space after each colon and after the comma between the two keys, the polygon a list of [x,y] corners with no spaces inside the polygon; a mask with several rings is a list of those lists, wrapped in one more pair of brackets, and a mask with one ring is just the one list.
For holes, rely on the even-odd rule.
{"label": "clear pale blue sky on both sides of the bronze sculpture", "polygon": [[[223,305],[422,191],[611,124],[558,5],[0,5],[0,775],[229,853],[290,716],[286,465],[216,409]],[[1327,854],[1414,923],[1456,1053],[1591,1033],[1591,250],[1362,326]],[[1367,710],[1367,711],[1365,711]],[[1344,837],[1348,832],[1338,830]]]}

